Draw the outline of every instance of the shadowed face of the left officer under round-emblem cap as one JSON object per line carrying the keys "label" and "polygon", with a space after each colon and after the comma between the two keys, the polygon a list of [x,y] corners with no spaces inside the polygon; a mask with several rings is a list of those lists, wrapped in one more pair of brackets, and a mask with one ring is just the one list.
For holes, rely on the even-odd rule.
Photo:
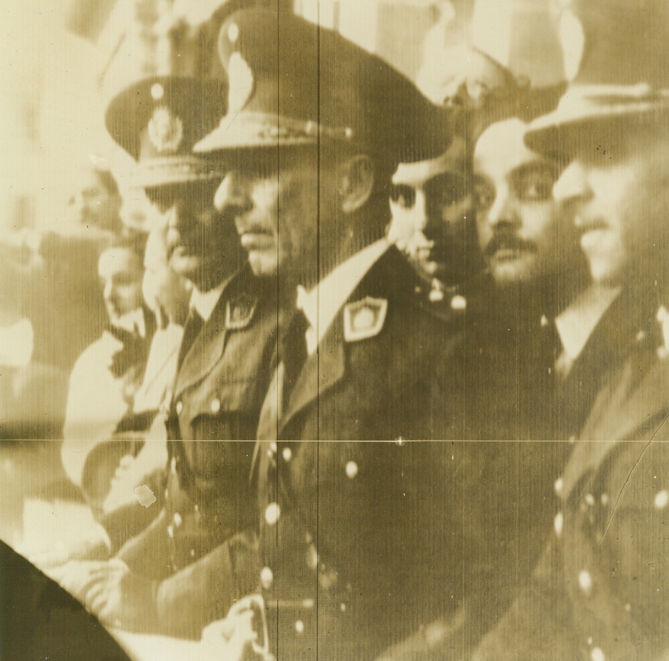
{"label": "shadowed face of the left officer under round-emblem cap", "polygon": [[218,286],[236,260],[238,240],[230,218],[214,208],[219,179],[174,183],[146,189],[167,225],[170,266],[202,292]]}

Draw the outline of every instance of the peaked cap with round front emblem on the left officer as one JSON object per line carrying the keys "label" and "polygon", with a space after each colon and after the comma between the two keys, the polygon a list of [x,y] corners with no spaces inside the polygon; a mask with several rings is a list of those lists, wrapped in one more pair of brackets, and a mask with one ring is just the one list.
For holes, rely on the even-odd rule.
{"label": "peaked cap with round front emblem on the left officer", "polygon": [[151,76],[112,98],[105,124],[136,161],[134,183],[146,188],[223,176],[192,148],[225,114],[227,93],[221,80]]}

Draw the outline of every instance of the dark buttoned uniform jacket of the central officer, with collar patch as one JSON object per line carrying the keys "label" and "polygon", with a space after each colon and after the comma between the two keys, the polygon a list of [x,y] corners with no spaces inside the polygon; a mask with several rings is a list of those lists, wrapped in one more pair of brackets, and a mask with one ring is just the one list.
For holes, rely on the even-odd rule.
{"label": "dark buttoned uniform jacket of the central officer, with collar patch", "polygon": [[481,507],[470,487],[490,444],[337,440],[461,433],[461,317],[422,309],[411,273],[394,248],[373,265],[349,304],[387,301],[383,326],[368,315],[378,332],[350,340],[339,311],[289,399],[289,440],[258,446],[258,583],[279,659],[372,658],[463,602],[462,548],[481,534],[463,511]]}

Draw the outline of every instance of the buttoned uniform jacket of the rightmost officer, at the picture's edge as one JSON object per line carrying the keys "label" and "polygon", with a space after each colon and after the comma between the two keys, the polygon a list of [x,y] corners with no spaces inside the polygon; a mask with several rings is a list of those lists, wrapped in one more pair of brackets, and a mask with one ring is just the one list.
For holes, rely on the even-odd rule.
{"label": "buttoned uniform jacket of the rightmost officer, at the picture's edge", "polygon": [[475,658],[666,658],[669,362],[644,335],[605,379],[533,585]]}

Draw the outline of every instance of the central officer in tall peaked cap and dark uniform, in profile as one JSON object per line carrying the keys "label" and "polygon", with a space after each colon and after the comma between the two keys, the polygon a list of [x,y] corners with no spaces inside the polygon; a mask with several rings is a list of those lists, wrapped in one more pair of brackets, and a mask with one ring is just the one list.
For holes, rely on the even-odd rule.
{"label": "central officer in tall peaked cap and dark uniform, in profile", "polygon": [[256,448],[262,569],[243,603],[257,634],[266,618],[266,658],[371,658],[463,603],[462,548],[480,534],[465,483],[489,469],[482,445],[402,439],[462,434],[462,312],[444,323],[426,309],[383,238],[392,171],[443,153],[443,110],[293,15],[235,13],[219,48],[228,115],[194,149],[228,163],[216,205],[302,317],[261,415],[275,440]]}

